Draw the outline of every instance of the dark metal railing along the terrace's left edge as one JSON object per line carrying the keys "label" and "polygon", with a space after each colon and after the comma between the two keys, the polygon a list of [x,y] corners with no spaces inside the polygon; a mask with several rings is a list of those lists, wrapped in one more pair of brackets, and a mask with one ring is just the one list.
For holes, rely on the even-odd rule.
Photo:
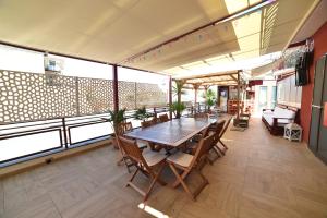
{"label": "dark metal railing along the terrace's left edge", "polygon": [[[154,107],[146,109],[152,116],[159,116],[162,113],[169,113],[169,107]],[[183,117],[187,117],[194,112],[203,111],[204,105],[198,104],[196,107],[189,106],[183,112]],[[136,121],[134,117],[135,110],[129,110],[125,112],[125,118],[134,123],[133,128],[140,128],[141,121]],[[21,122],[21,123],[10,123],[0,125],[0,167],[13,165],[20,161],[33,159],[36,157],[45,156],[48,154],[53,154],[80,146],[84,146],[94,142],[108,140],[112,135],[113,131],[109,122],[102,118],[108,118],[109,113],[84,116],[84,117],[73,117],[73,118],[61,118],[51,119],[43,121],[33,122]],[[135,124],[136,123],[136,124]],[[84,131],[84,132],[83,132]],[[10,141],[14,138],[26,138],[24,142],[28,144],[29,137],[34,138],[33,144],[43,144],[36,136],[44,136],[47,133],[51,134],[52,141],[57,142],[50,147],[39,148],[35,145],[35,150],[33,152],[21,152],[20,155],[8,155],[5,156],[5,147],[10,149],[12,146]],[[85,134],[86,133],[86,134]],[[43,135],[44,134],[44,135]],[[84,137],[84,138],[81,138]],[[56,137],[56,138],[55,138]],[[80,137],[80,140],[78,140]],[[23,141],[20,141],[21,143]],[[14,142],[13,142],[14,143]],[[49,143],[49,142],[45,142]],[[25,143],[24,143],[25,144]],[[26,145],[21,145],[19,149],[24,148]],[[16,146],[16,145],[15,145]]]}

